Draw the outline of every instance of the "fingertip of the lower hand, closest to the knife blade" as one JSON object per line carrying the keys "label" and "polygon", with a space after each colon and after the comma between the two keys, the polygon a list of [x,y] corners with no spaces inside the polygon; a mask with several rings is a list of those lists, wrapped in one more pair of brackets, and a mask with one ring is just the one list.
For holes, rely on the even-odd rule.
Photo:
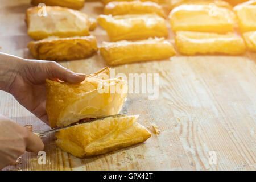
{"label": "fingertip of the lower hand, closest to the knife blade", "polygon": [[40,137],[32,132],[28,132],[28,137],[26,139],[26,151],[37,153],[42,150],[44,150],[44,143]]}

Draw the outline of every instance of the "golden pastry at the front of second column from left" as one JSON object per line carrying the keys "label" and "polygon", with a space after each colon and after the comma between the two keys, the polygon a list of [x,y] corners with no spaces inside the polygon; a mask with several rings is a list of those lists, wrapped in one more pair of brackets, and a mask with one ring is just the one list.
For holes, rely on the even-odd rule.
{"label": "golden pastry at the front of second column from left", "polygon": [[109,65],[168,59],[176,54],[174,46],[164,38],[103,42],[100,53]]}

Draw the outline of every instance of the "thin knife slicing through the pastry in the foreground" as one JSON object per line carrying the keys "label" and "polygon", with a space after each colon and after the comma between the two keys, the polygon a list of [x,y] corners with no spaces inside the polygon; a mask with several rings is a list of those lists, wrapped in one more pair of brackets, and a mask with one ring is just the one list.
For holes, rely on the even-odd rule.
{"label": "thin knife slicing through the pastry in the foreground", "polygon": [[57,129],[52,129],[52,130],[43,131],[43,132],[33,132],[33,133],[38,135],[38,137],[42,137],[44,135],[47,135],[47,134],[50,134],[50,133],[54,133],[54,132],[60,131],[62,129],[67,129],[67,128],[75,126],[75,125],[84,125],[84,124],[87,124],[87,123],[92,123],[94,121],[102,120],[102,119],[109,118],[109,117],[116,117],[116,116],[123,115],[123,114],[127,114],[127,112],[126,113],[120,113],[120,114],[114,114],[114,115],[108,115],[108,116],[105,116],[105,117],[102,117],[102,118],[90,119],[88,121],[85,121],[84,123],[79,123],[79,124],[75,123],[75,124],[72,124],[72,125],[68,125],[68,126],[64,126],[64,127],[59,127]]}

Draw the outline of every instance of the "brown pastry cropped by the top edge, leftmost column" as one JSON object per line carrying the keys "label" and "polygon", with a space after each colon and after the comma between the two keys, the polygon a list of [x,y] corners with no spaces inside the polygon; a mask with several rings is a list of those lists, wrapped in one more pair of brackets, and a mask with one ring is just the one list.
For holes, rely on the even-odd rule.
{"label": "brown pastry cropped by the top edge, leftmost column", "polygon": [[44,3],[47,6],[62,6],[71,9],[81,9],[84,6],[85,0],[32,0],[31,4],[34,6],[39,3]]}

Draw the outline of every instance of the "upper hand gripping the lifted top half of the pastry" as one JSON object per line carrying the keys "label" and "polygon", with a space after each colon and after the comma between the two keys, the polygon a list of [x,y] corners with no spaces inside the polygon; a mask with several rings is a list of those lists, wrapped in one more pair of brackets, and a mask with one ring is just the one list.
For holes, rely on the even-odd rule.
{"label": "upper hand gripping the lifted top half of the pastry", "polygon": [[70,83],[81,82],[84,74],[74,73],[54,61],[26,60],[0,53],[0,89],[11,93],[36,117],[48,123],[46,78]]}

